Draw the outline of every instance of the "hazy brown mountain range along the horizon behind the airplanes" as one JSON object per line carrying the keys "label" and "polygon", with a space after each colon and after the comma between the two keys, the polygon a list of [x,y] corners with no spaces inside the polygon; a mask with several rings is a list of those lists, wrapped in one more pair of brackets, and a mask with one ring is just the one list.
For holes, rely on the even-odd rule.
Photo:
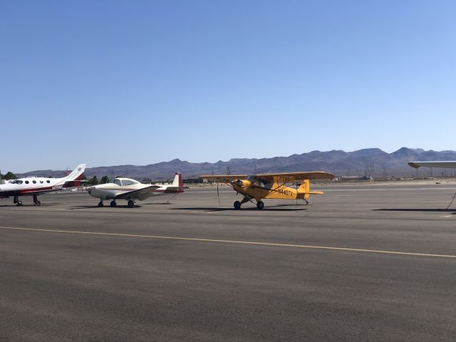
{"label": "hazy brown mountain range along the horizon behind the airplanes", "polygon": [[[387,153],[378,148],[366,148],[353,152],[342,150],[312,151],[289,157],[272,157],[261,159],[237,158],[226,162],[187,162],[179,159],[169,162],[158,162],[150,165],[117,165],[103,167],[88,167],[85,175],[98,178],[131,177],[136,179],[151,178],[152,180],[171,179],[175,172],[182,172],[184,178],[193,178],[198,175],[225,174],[227,170],[232,174],[254,174],[270,172],[299,172],[299,171],[328,171],[335,175],[371,175],[381,177],[386,173],[388,177],[416,175],[416,170],[407,165],[416,160],[456,160],[456,152],[425,151],[420,148],[411,149],[402,147],[399,150]],[[36,170],[19,176],[38,175],[43,177],[63,177],[64,171]],[[420,169],[420,176],[429,175],[427,168]],[[436,173],[437,172],[437,173]],[[434,175],[437,175],[434,170]],[[447,170],[450,175],[450,170]]]}

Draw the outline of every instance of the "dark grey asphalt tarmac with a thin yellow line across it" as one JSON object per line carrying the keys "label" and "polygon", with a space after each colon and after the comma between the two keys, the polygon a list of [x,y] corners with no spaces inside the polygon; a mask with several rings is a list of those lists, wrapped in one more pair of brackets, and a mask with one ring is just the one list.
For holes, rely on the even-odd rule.
{"label": "dark grey asphalt tarmac with a thin yellow line across it", "polygon": [[1,199],[0,341],[456,341],[456,185],[312,190]]}

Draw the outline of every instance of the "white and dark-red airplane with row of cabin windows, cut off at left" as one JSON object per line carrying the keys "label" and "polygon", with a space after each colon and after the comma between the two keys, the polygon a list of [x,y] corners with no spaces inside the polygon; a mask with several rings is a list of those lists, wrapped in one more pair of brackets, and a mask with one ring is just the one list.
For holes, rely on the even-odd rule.
{"label": "white and dark-red airplane with row of cabin windows, cut off at left", "polygon": [[40,205],[38,195],[46,192],[78,187],[83,178],[83,172],[87,164],[81,164],[76,167],[68,176],[61,178],[43,178],[43,177],[26,177],[18,180],[9,180],[0,185],[0,198],[9,198],[13,196],[13,202],[22,205],[19,196],[33,196],[33,203]]}

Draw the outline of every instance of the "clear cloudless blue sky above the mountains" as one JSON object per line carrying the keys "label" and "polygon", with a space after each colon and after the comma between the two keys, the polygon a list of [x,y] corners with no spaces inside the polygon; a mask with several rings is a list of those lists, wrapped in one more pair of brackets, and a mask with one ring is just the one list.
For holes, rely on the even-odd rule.
{"label": "clear cloudless blue sky above the mountains", "polygon": [[1,170],[456,150],[455,1],[2,1]]}

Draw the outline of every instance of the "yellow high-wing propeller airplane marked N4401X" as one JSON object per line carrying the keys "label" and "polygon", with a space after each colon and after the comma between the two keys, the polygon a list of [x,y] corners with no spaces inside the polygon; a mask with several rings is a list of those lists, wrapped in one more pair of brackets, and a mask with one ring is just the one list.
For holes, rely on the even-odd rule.
{"label": "yellow high-wing propeller airplane marked N4401X", "polygon": [[[328,172],[291,172],[269,173],[263,175],[202,175],[203,180],[215,180],[230,185],[233,190],[244,195],[242,201],[234,202],[234,209],[241,209],[241,205],[255,199],[257,208],[263,209],[261,199],[304,199],[306,203],[310,195],[323,194],[321,191],[310,191],[311,180],[332,180],[334,175]],[[301,186],[297,187],[297,182]],[[296,187],[286,186],[296,182]]]}

